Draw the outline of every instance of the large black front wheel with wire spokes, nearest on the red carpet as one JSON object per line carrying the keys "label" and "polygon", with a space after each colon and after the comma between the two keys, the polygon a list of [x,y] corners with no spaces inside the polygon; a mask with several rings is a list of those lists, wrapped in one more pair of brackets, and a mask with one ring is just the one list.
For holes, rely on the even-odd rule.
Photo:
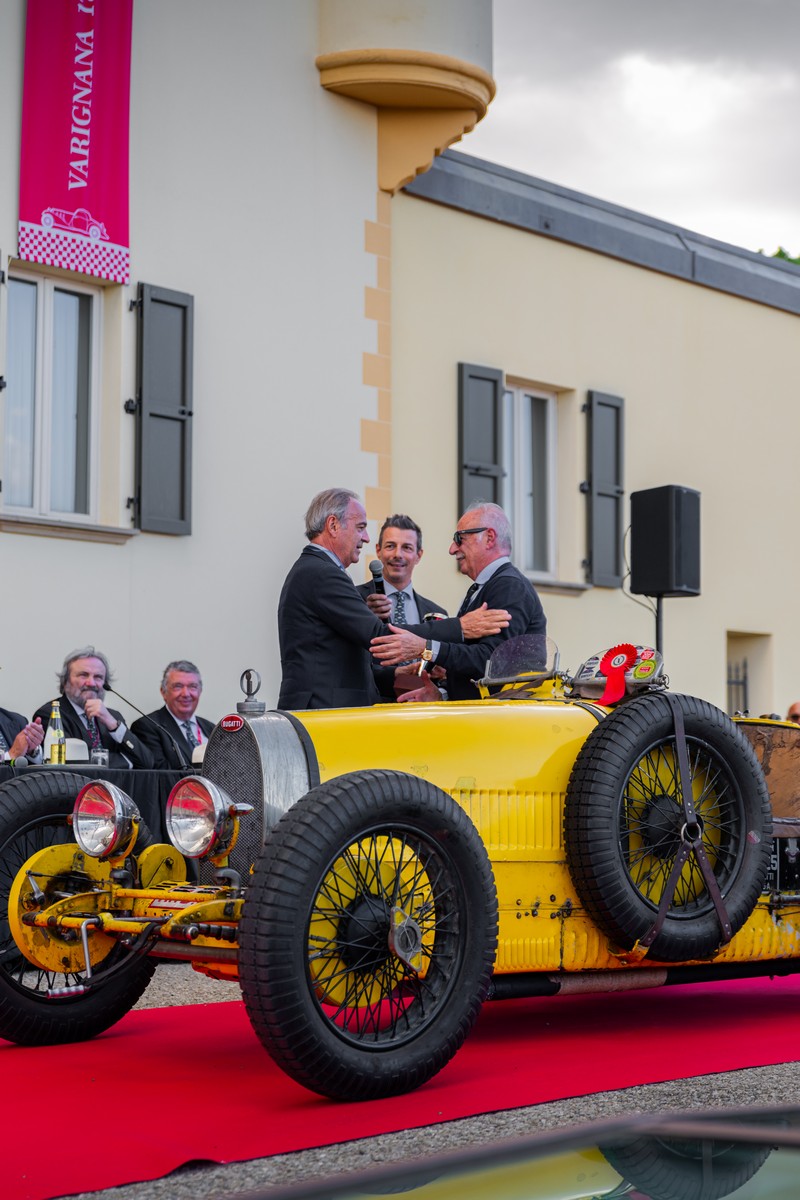
{"label": "large black front wheel with wire spokes, nearest on the red carpet", "polygon": [[[421,940],[419,973],[390,950],[392,906]],[[414,775],[342,775],[283,816],[255,863],[239,926],[245,1004],[305,1087],[396,1096],[462,1045],[497,934],[492,866],[464,810]]]}

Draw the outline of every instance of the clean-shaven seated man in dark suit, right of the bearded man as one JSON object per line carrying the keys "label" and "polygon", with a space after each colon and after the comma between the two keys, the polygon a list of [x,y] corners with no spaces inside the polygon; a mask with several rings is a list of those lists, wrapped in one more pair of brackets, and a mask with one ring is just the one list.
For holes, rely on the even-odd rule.
{"label": "clean-shaven seated man in dark suit, right of the bearded man", "polygon": [[197,715],[203,679],[193,662],[168,662],[161,680],[163,708],[133,722],[133,732],[152,754],[158,770],[190,767],[194,748],[207,742],[213,722]]}

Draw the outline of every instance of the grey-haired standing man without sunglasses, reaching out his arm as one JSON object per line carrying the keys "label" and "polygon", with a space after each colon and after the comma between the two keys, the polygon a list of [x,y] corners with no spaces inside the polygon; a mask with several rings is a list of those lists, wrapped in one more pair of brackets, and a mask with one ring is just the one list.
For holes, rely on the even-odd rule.
{"label": "grey-haired standing man without sunglasses, reaching out his arm", "polygon": [[[355,492],[331,487],[311,502],[300,558],[278,602],[281,694],[278,708],[356,708],[379,701],[369,642],[399,632],[375,617],[356,592],[347,568],[369,541],[367,514]],[[475,608],[462,620],[440,622],[441,640],[482,637],[504,628],[509,614]],[[426,635],[427,626],[410,626]],[[408,655],[407,655],[408,656]]]}

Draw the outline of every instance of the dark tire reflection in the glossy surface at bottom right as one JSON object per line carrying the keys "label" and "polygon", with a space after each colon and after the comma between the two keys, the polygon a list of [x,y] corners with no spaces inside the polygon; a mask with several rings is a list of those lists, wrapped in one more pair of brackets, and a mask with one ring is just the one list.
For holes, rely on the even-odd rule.
{"label": "dark tire reflection in the glossy surface at bottom right", "polygon": [[772,1148],[702,1138],[636,1138],[600,1151],[650,1200],[722,1200],[760,1170]]}

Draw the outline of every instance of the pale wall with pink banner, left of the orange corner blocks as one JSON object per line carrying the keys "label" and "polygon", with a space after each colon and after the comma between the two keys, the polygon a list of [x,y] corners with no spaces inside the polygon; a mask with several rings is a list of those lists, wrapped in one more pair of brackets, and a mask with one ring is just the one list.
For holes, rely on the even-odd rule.
{"label": "pale wall with pink banner, left of the orange corner blocks", "polygon": [[[491,0],[337,7],[356,48],[389,47],[391,60],[408,46],[437,62],[474,48],[479,76],[491,67]],[[7,0],[6,275],[19,268],[24,28],[24,0]],[[391,275],[390,199],[378,170],[383,100],[323,86],[317,59],[330,32],[330,5],[317,0],[136,0],[132,280],[107,287],[103,306],[102,528],[52,536],[58,530],[8,520],[0,496],[5,707],[32,712],[53,695],[64,654],[86,642],[108,653],[120,690],[145,710],[161,703],[166,662],[182,656],[205,677],[203,714],[218,718],[236,703],[248,666],[261,672],[263,697],[273,704],[278,595],[305,544],[311,497],[332,485],[355,488],[368,498],[373,533],[384,515]],[[337,49],[348,48],[347,37]],[[427,162],[437,149],[429,140]],[[134,420],[122,404],[136,389],[130,301],[140,282],[194,296],[191,536],[130,536]],[[0,374],[6,305],[0,286]]]}

